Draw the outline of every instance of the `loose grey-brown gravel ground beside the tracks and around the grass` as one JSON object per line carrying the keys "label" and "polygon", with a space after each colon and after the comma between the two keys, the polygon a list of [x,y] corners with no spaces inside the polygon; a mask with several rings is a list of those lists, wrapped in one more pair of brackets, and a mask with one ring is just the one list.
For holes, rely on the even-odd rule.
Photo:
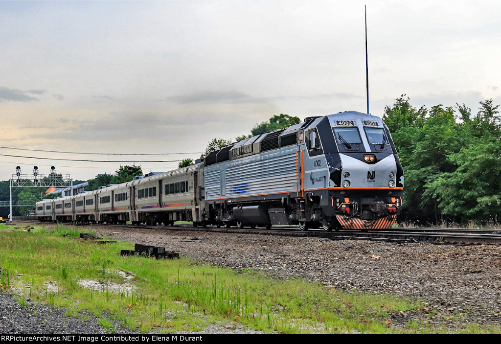
{"label": "loose grey-brown gravel ground beside the tracks and around the grass", "polygon": [[[387,321],[390,326],[401,327],[413,320],[450,330],[472,323],[501,325],[501,246],[498,245],[333,241],[162,227],[95,226],[93,230],[118,240],[165,247],[214,266],[263,270],[274,278],[302,277],[319,281],[327,288],[392,294],[423,303],[421,310],[391,313]],[[12,295],[0,294],[0,332],[106,332],[97,319],[84,322],[64,315],[64,309],[25,306],[30,307],[31,312],[23,310]],[[33,307],[47,309],[40,308],[34,315]],[[40,326],[41,321],[44,327]],[[116,324],[114,328],[117,333],[131,333]],[[228,332],[222,325],[206,329],[208,333],[221,331]],[[236,328],[229,332],[247,331]]]}

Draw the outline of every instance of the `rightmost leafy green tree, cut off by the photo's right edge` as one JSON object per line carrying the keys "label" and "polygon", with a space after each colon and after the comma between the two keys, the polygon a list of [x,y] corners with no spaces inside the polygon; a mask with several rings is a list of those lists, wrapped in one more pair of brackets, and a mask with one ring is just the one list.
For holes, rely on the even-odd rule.
{"label": "rightmost leafy green tree, cut off by the photo's right edge", "polygon": [[459,128],[460,150],[449,154],[456,167],[441,175],[432,185],[434,196],[444,214],[463,223],[490,219],[501,215],[501,124],[496,114],[499,105],[492,99],[479,102],[476,115],[463,104]]}

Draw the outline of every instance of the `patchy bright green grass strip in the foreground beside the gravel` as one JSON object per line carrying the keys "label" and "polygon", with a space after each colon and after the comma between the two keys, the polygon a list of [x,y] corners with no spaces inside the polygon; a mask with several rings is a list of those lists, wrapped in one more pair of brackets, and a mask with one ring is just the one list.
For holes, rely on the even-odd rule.
{"label": "patchy bright green grass strip in the foreground beside the gravel", "polygon": [[[110,330],[113,319],[141,332],[197,331],[228,322],[279,333],[436,332],[421,323],[400,329],[385,323],[392,311],[422,307],[408,299],[326,289],[303,279],[274,280],[261,272],[216,268],[183,257],[122,257],[117,253],[132,249],[131,243],[99,245],[78,239],[80,230],[61,225],[54,231],[5,228],[0,225],[0,289],[30,286],[33,300],[66,307],[68,316],[95,316]],[[136,276],[124,283],[120,270]],[[101,281],[104,287],[83,287],[78,283],[82,279]]]}

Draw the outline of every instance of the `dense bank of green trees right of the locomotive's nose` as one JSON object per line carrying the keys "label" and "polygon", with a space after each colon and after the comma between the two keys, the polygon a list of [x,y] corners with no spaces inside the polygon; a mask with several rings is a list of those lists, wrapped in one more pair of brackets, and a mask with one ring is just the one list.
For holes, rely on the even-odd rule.
{"label": "dense bank of green trees right of the locomotive's nose", "polygon": [[501,215],[499,105],[480,102],[476,115],[464,104],[428,112],[402,95],[385,107],[404,169],[403,216],[439,223],[497,222]]}

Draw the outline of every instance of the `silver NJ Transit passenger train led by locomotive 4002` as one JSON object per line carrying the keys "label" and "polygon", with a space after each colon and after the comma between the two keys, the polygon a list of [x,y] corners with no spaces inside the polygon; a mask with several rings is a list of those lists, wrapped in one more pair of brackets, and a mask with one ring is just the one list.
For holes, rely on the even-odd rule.
{"label": "silver NJ Transit passenger train led by locomotive 4002", "polygon": [[310,117],[230,144],[190,167],[38,202],[37,216],[41,221],[385,229],[400,212],[403,179],[381,118],[350,111]]}

